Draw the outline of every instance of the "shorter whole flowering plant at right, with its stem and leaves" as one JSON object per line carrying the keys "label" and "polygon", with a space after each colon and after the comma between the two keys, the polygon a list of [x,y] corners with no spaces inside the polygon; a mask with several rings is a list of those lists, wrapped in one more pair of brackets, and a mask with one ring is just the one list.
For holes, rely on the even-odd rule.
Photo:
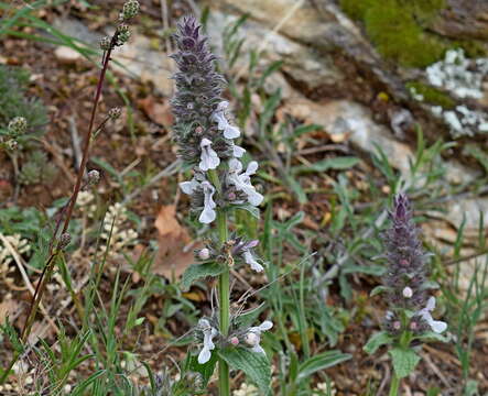
{"label": "shorter whole flowering plant at right, with its stem and leaves", "polygon": [[371,295],[386,294],[389,309],[384,316],[384,330],[371,337],[365,351],[372,354],[383,344],[391,346],[389,353],[394,374],[390,396],[393,396],[398,394],[400,380],[413,372],[420,361],[415,344],[427,340],[446,341],[441,333],[447,329],[447,324],[434,320],[431,315],[435,308],[435,297],[427,295],[432,288],[426,276],[429,254],[422,250],[405,195],[394,197],[390,218],[392,226],[383,234],[387,273],[383,285],[371,292]]}

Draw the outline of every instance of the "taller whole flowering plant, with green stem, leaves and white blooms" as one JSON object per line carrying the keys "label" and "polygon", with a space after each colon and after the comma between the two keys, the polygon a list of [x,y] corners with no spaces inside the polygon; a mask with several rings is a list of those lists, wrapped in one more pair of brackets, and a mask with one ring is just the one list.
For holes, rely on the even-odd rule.
{"label": "taller whole flowering plant, with green stem, leaves and white blooms", "polygon": [[[207,37],[193,16],[184,18],[175,35],[177,53],[172,55],[178,70],[174,75],[176,94],[172,100],[175,114],[174,139],[180,146],[181,158],[193,168],[191,180],[180,184],[191,197],[192,212],[203,224],[209,224],[209,242],[197,251],[197,264],[183,275],[184,288],[202,277],[218,276],[218,315],[199,319],[195,337],[202,345],[193,370],[200,372],[204,386],[218,361],[220,395],[230,394],[229,366],[242,370],[263,392],[268,392],[270,365],[260,345],[262,332],[272,322],[243,326],[239,314],[230,311],[230,267],[243,262],[254,272],[263,265],[254,255],[258,241],[246,241],[229,234],[228,222],[232,209],[247,209],[259,213],[263,201],[251,183],[258,163],[245,166],[241,157],[246,150],[235,140],[240,131],[232,125],[229,103],[223,100],[225,79],[215,70],[215,56],[208,51]],[[216,224],[215,228],[212,228]]]}

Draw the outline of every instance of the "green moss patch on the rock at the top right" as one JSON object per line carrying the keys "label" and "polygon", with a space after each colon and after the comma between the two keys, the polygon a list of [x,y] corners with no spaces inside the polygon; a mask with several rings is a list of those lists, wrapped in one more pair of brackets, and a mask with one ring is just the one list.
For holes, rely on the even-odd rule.
{"label": "green moss patch on the rock at the top right", "polygon": [[406,67],[426,67],[451,47],[423,29],[445,0],[341,0],[344,11],[365,23],[380,54]]}

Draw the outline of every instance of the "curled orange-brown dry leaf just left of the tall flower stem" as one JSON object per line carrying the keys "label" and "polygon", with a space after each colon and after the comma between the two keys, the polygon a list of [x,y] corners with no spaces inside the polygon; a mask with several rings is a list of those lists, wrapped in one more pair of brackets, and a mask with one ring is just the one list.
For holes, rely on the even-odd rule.
{"label": "curled orange-brown dry leaf just left of the tall flower stem", "polygon": [[186,267],[195,262],[194,249],[200,245],[192,245],[188,231],[180,226],[176,220],[174,205],[163,206],[154,222],[159,231],[159,251],[154,261],[153,271],[158,275],[167,278],[180,277]]}

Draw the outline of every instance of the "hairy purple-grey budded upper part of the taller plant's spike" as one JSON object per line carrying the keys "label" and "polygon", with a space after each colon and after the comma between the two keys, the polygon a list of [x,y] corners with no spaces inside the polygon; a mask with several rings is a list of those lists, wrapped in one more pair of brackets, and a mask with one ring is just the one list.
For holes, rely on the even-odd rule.
{"label": "hairy purple-grey budded upper part of the taller plant's spike", "polygon": [[[200,33],[195,18],[184,18],[174,38],[178,50],[171,55],[177,65],[173,76],[176,94],[171,101],[176,118],[174,135],[183,160],[189,164],[202,160],[205,167],[232,155],[232,142],[214,120],[225,79],[215,70],[216,57],[209,52],[207,37]],[[208,154],[213,155],[212,164],[205,161]]]}

